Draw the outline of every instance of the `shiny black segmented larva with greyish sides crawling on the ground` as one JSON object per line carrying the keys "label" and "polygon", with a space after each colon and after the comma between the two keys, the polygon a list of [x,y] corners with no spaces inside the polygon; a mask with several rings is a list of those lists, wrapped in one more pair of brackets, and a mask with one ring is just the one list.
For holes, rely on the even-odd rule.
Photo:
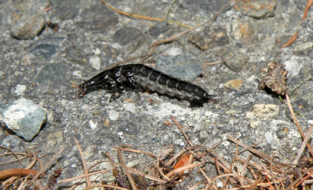
{"label": "shiny black segmented larva with greyish sides crawling on the ground", "polygon": [[97,89],[111,90],[111,99],[115,99],[116,92],[126,89],[148,89],[161,95],[198,103],[214,101],[215,96],[195,84],[171,77],[143,64],[128,64],[107,69],[80,84],[78,96],[84,96],[86,92]]}

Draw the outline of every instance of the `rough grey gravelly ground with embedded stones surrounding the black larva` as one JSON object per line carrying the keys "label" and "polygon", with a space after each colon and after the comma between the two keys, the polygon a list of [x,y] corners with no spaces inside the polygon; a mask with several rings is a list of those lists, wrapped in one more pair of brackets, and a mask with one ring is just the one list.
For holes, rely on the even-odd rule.
{"label": "rough grey gravelly ground with embedded stones surrounding the black larva", "polygon": [[[107,2],[128,13],[165,19],[173,1]],[[208,23],[157,46],[144,62],[218,96],[214,103],[192,106],[186,100],[134,91],[121,93],[111,103],[105,90],[75,100],[79,79],[89,79],[115,62],[149,54],[154,42],[186,27],[126,17],[96,0],[0,1],[0,142],[17,152],[40,150],[48,154],[43,163],[64,147],[47,173],[62,168],[60,179],[66,179],[83,173],[74,137],[88,166],[104,160],[106,151],[116,158],[111,147],[121,144],[156,155],[163,146],[175,144],[178,152],[186,139],[172,115],[193,144],[212,146],[224,139],[216,151],[229,162],[235,144],[224,138],[226,134],[247,145],[258,144],[264,154],[290,163],[301,146],[301,135],[278,95],[259,90],[258,84],[270,62],[285,65],[285,90],[302,116],[297,119],[306,134],[313,124],[313,12],[309,10],[299,27],[305,4],[305,0],[174,3],[169,20],[191,27]],[[281,49],[295,31],[297,39]],[[217,64],[206,65],[212,62]],[[151,161],[138,154],[123,156],[126,162]],[[20,165],[1,165],[0,170],[12,167]],[[213,165],[206,168],[216,172]],[[187,189],[202,179],[193,172],[181,187]]]}

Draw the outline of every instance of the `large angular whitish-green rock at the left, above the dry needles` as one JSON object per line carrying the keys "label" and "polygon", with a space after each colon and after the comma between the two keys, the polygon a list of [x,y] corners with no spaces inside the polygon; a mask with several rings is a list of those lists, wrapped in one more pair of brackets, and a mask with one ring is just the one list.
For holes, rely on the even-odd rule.
{"label": "large angular whitish-green rock at the left, above the dry needles", "polygon": [[0,108],[0,113],[8,129],[25,140],[32,140],[47,121],[47,110],[25,98],[18,99]]}

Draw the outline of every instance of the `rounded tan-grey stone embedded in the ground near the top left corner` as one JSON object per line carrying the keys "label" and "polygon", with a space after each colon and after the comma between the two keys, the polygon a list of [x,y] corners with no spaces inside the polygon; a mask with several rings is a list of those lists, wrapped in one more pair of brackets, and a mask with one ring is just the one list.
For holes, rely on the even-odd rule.
{"label": "rounded tan-grey stone embedded in the ground near the top left corner", "polygon": [[19,40],[33,39],[44,29],[46,20],[43,14],[28,11],[18,14],[12,23],[10,34]]}

